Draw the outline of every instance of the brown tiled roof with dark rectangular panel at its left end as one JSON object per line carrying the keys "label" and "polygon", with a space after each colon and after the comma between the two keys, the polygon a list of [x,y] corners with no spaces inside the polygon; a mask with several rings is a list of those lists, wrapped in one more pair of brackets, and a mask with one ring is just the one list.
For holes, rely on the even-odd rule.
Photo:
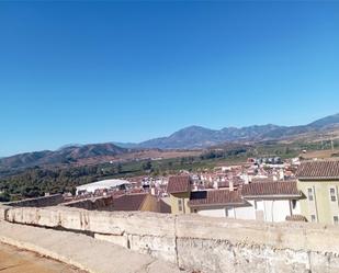
{"label": "brown tiled roof with dark rectangular panel at its left end", "polygon": [[241,205],[245,204],[237,191],[214,190],[192,192],[189,201],[189,206],[205,206],[205,205]]}

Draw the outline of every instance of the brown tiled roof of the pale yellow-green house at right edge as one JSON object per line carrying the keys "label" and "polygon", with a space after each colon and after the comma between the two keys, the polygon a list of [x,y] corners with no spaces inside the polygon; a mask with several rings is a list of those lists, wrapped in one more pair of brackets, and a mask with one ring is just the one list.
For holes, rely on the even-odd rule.
{"label": "brown tiled roof of the pale yellow-green house at right edge", "polygon": [[339,179],[339,161],[302,162],[296,177],[300,180]]}

